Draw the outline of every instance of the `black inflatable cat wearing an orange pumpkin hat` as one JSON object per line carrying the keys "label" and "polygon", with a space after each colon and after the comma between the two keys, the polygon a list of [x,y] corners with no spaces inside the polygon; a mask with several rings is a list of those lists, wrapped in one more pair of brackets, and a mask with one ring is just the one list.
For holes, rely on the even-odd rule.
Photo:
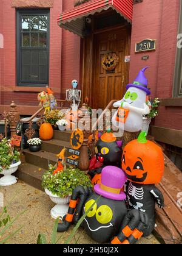
{"label": "black inflatable cat wearing an orange pumpkin hat", "polygon": [[93,177],[92,183],[100,183],[102,169],[107,165],[121,166],[122,141],[116,141],[116,137],[110,130],[101,135],[95,147],[95,155],[90,160],[90,176]]}

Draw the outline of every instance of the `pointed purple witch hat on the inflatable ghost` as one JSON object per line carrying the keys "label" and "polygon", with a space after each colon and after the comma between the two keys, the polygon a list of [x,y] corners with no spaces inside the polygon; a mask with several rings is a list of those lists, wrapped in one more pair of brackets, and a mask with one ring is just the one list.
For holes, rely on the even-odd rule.
{"label": "pointed purple witch hat on the inflatable ghost", "polygon": [[138,76],[136,77],[135,81],[133,82],[133,84],[129,84],[126,86],[126,89],[130,88],[130,87],[136,87],[140,90],[143,90],[147,93],[147,96],[150,95],[150,90],[147,88],[148,85],[148,79],[146,78],[144,72],[146,71],[146,69],[149,68],[149,66],[146,66],[146,68],[143,68],[140,70],[140,72],[138,73]]}

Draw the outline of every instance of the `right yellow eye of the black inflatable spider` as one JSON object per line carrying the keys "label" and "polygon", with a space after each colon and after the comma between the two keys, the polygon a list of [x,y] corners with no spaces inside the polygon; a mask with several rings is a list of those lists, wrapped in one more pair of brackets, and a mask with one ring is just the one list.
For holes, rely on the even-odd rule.
{"label": "right yellow eye of the black inflatable spider", "polygon": [[107,205],[102,205],[96,211],[96,220],[101,224],[107,224],[112,220],[113,212]]}

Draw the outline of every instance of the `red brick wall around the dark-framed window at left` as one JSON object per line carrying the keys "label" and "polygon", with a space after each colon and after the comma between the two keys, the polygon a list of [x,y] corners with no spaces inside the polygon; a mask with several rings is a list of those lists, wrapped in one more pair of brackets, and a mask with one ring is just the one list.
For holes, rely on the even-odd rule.
{"label": "red brick wall around the dark-framed window at left", "polygon": [[[0,10],[0,29],[4,34],[4,74],[1,74],[1,104],[37,105],[37,93],[15,92],[16,87],[16,9],[11,7],[11,0],[2,0]],[[32,0],[26,1],[27,5]],[[45,1],[46,4],[46,1]],[[56,18],[62,12],[62,0],[55,1],[50,8],[50,74],[49,86],[55,88],[56,97],[61,93],[61,45],[62,29]],[[3,29],[2,29],[3,28]],[[2,52],[2,51],[1,51]],[[2,72],[2,69],[1,69]],[[3,80],[3,81],[2,81]],[[19,87],[18,87],[19,88]],[[44,89],[42,89],[44,90]],[[30,88],[31,91],[31,88]]]}

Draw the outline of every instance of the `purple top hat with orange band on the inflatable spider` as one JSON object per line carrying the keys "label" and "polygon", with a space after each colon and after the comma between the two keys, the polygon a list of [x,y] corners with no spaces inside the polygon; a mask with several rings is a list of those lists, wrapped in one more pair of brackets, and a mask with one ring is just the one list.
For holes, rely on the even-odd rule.
{"label": "purple top hat with orange band on the inflatable spider", "polygon": [[126,194],[121,189],[126,180],[127,177],[122,169],[106,166],[101,174],[101,184],[94,186],[95,193],[112,200],[123,201],[126,199]]}

